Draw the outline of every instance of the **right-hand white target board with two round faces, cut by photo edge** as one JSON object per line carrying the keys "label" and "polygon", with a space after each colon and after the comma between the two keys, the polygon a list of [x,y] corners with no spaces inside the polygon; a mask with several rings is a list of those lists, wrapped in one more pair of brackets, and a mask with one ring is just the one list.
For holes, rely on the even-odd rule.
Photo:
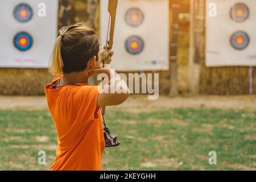
{"label": "right-hand white target board with two round faces, cut by photo edge", "polygon": [[[209,16],[209,4],[217,16]],[[256,66],[256,1],[206,1],[205,65]]]}

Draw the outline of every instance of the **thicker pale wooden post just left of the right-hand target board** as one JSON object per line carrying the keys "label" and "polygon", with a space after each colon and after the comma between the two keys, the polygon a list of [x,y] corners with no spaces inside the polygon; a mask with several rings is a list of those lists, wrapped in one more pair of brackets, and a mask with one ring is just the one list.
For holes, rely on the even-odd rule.
{"label": "thicker pale wooden post just left of the right-hand target board", "polygon": [[204,57],[205,0],[190,1],[189,90],[199,93],[201,60]]}

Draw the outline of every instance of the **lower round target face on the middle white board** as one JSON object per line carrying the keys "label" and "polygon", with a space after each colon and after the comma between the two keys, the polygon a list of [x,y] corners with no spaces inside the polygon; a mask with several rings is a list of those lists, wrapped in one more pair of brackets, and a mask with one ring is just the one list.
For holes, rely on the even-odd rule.
{"label": "lower round target face on the middle white board", "polygon": [[137,55],[143,51],[144,42],[139,36],[130,36],[125,42],[125,48],[132,55]]}

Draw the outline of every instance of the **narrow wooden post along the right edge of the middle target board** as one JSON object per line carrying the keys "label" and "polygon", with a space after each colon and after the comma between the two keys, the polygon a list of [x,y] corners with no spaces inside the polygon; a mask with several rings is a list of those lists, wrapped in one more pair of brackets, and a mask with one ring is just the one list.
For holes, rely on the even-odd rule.
{"label": "narrow wooden post along the right edge of the middle target board", "polygon": [[171,23],[171,52],[170,52],[170,96],[175,97],[179,94],[178,90],[178,64],[177,64],[177,46],[179,37],[179,10],[180,4],[174,1],[171,4],[172,23]]}

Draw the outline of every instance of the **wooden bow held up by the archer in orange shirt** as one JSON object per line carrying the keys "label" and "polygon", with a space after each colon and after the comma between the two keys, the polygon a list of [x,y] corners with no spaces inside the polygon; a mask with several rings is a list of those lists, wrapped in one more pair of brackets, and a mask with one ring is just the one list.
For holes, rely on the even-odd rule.
{"label": "wooden bow held up by the archer in orange shirt", "polygon": [[[115,15],[117,14],[117,4],[118,0],[109,0],[109,22],[108,22],[108,32],[106,36],[106,46],[105,46],[105,56],[108,55],[108,50],[113,48],[114,40],[114,30],[115,30]],[[111,23],[110,23],[111,20]],[[110,30],[109,30],[110,27]],[[110,64],[111,56],[105,58],[103,64]],[[102,107],[102,114],[105,114],[106,107]]]}

